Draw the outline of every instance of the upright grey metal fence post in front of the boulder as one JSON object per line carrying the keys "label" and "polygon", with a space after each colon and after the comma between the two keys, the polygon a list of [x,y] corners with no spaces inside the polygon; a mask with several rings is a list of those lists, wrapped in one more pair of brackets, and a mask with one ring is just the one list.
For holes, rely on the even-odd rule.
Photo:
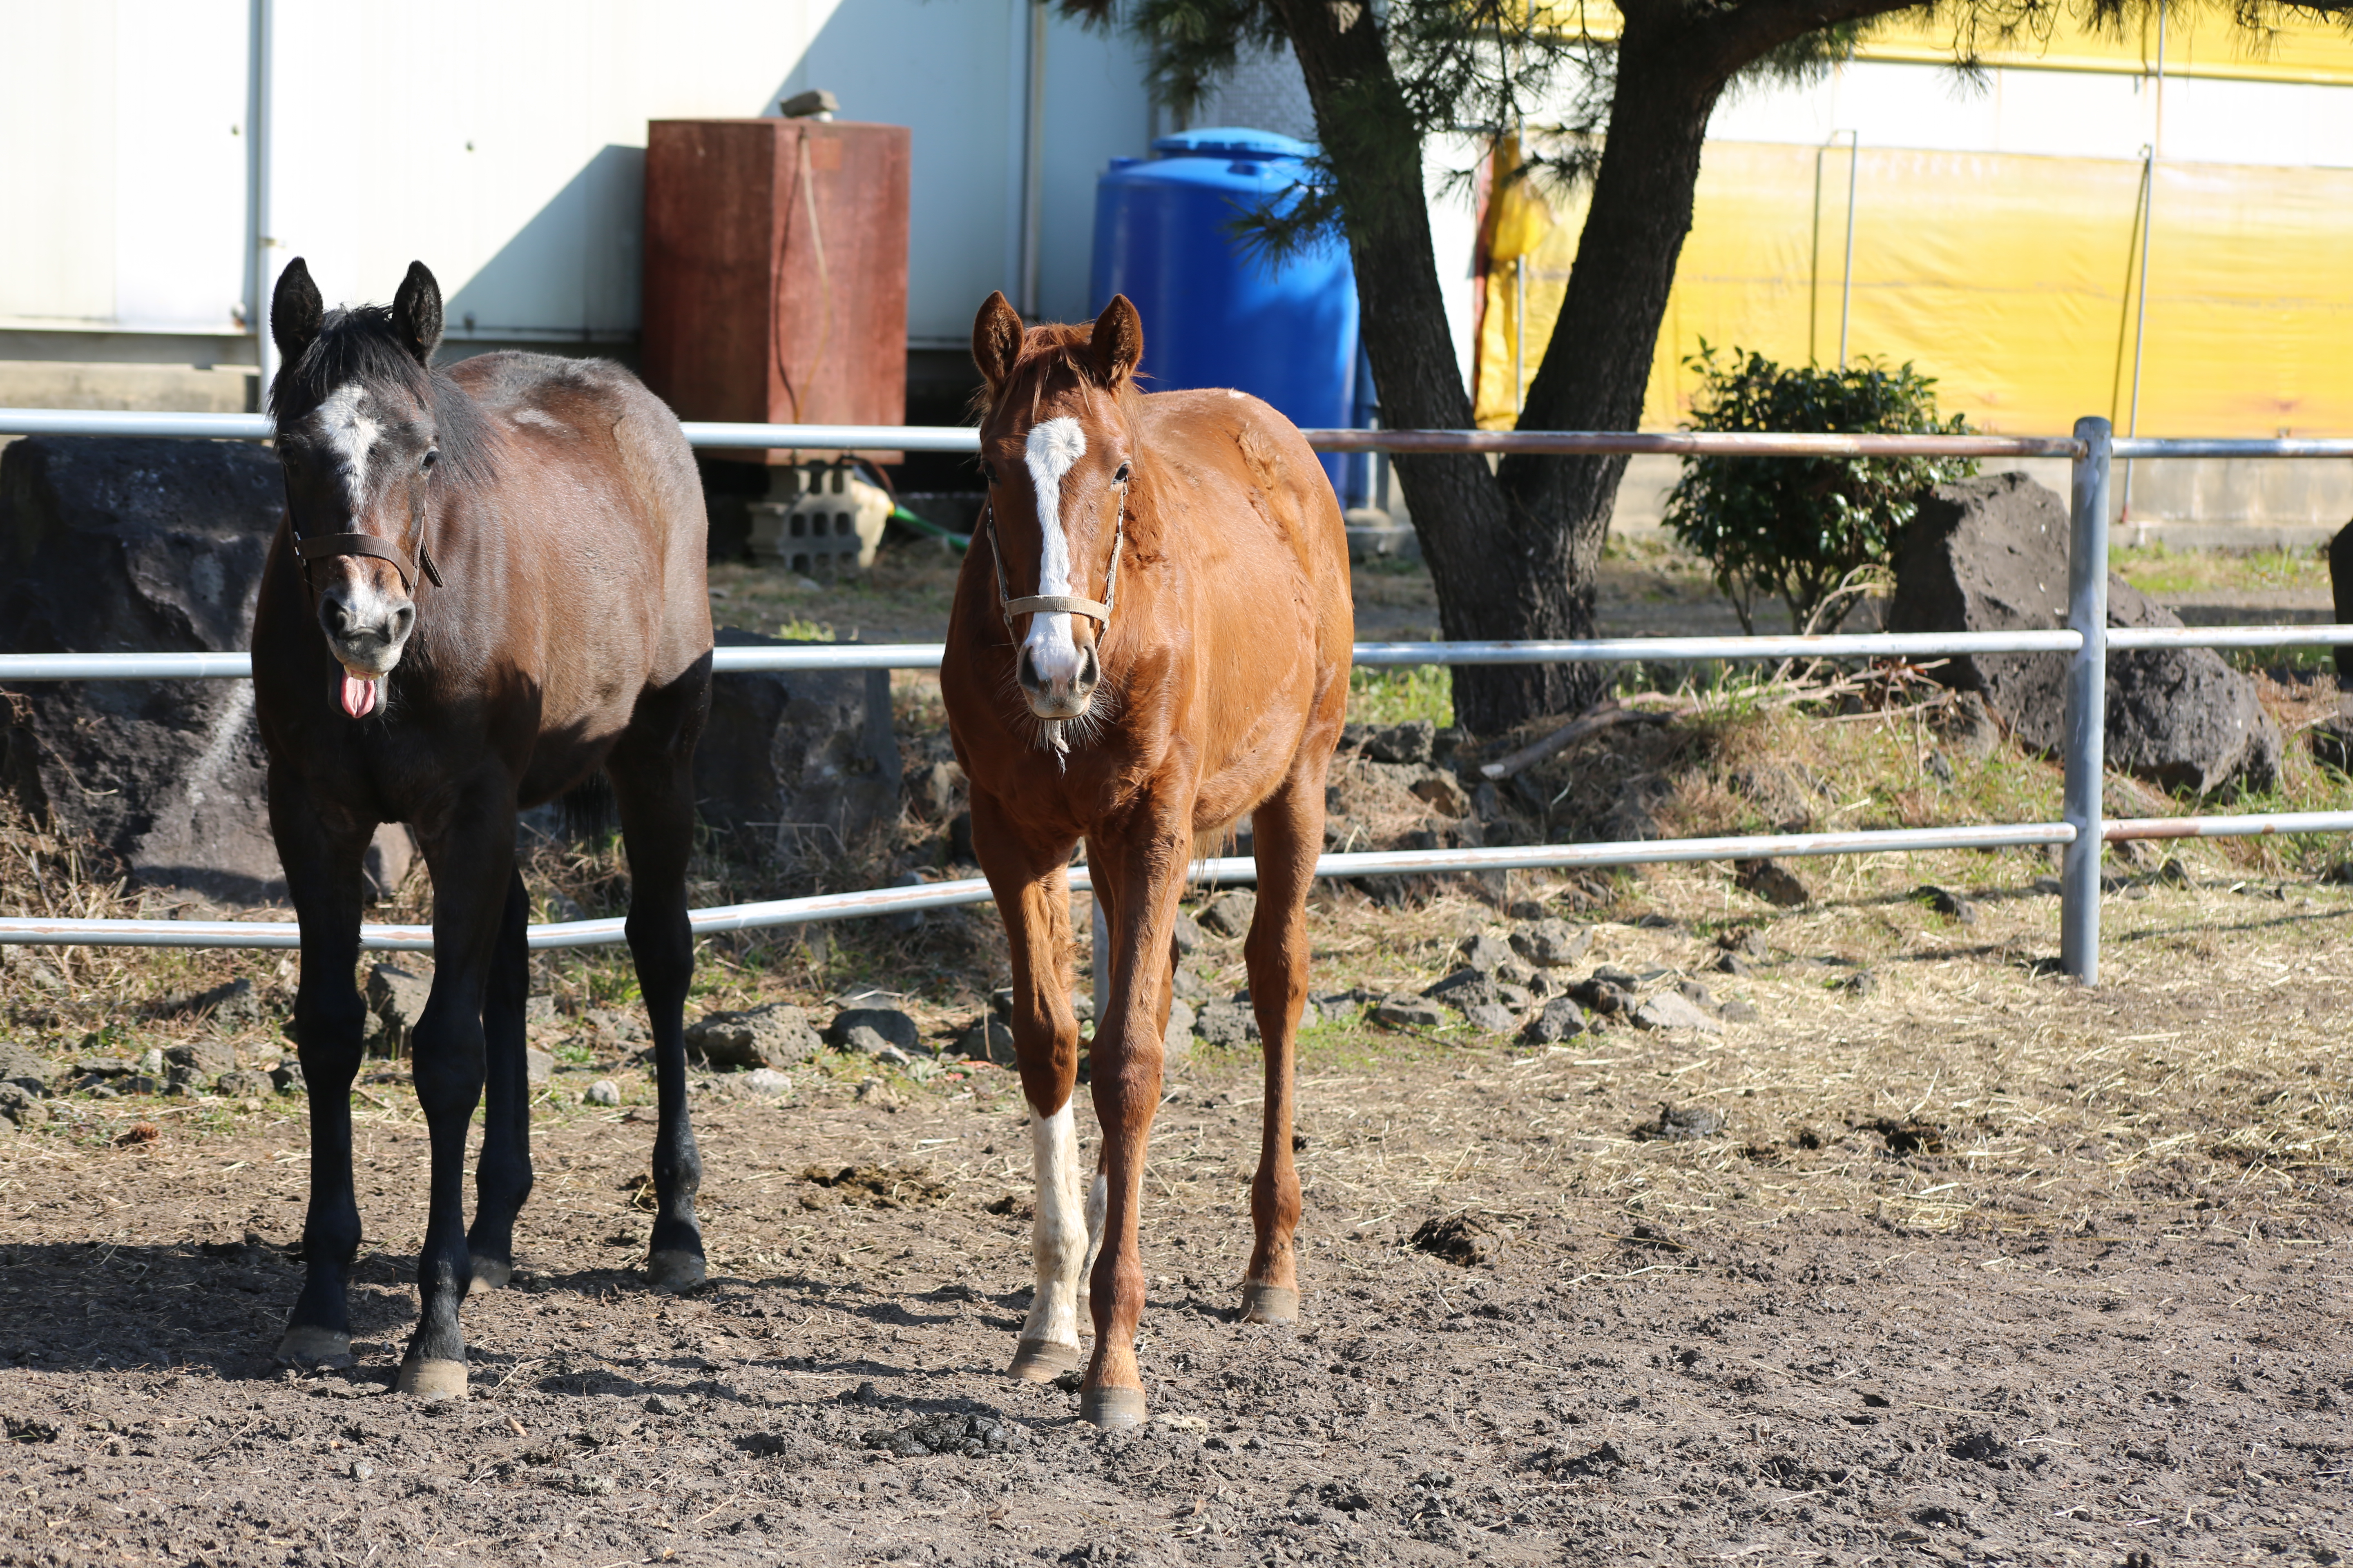
{"label": "upright grey metal fence post in front of the boulder", "polygon": [[2108,729],[2108,437],[2106,418],[2078,418],[2068,498],[2066,623],[2082,637],[2066,670],[2066,820],[2075,842],[2059,872],[2059,964],[2099,985],[2101,783]]}

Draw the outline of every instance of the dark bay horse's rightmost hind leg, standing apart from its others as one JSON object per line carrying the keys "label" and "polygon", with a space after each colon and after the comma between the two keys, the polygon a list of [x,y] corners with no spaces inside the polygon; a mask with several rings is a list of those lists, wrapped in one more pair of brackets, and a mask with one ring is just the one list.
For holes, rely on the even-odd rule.
{"label": "dark bay horse's rightmost hind leg, standing apart from its others", "polygon": [[638,703],[631,729],[605,762],[621,806],[628,849],[628,952],[654,1030],[654,1234],[645,1276],[656,1291],[704,1284],[704,1232],[694,1192],[704,1157],[687,1117],[687,985],[694,931],[687,926],[687,856],[694,851],[694,741],[711,693],[711,665]]}

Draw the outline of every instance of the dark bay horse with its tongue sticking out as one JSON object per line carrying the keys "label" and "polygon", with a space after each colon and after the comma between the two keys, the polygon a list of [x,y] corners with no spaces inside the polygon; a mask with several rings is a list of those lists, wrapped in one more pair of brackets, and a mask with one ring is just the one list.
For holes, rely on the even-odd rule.
{"label": "dark bay horse with its tongue sticking out", "polygon": [[[678,418],[598,360],[494,353],[438,371],[440,334],[424,263],[391,308],[325,313],[301,261],[278,280],[287,515],[252,644],[271,830],[301,919],[294,1032],[311,1086],[306,1281],[280,1356],[351,1354],[360,858],[379,823],[407,823],[433,870],[433,994],[412,1037],[433,1180],[398,1387],[428,1396],[464,1394],[459,1302],[506,1284],[532,1190],[515,811],[595,769],[628,844],[628,947],[661,1086],[647,1274],[673,1291],[704,1276],[682,1009],[692,764],[711,708],[704,501]],[[466,1128],[485,1081],[468,1232]]]}

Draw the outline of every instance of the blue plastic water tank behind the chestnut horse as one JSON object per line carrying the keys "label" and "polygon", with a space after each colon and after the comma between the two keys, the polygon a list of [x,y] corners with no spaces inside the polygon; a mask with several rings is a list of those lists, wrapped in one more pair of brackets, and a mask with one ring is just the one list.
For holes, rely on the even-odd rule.
{"label": "blue plastic water tank behind the chestnut horse", "polygon": [[[1268,263],[1228,233],[1304,179],[1306,141],[1235,127],[1162,136],[1115,158],[1094,188],[1092,310],[1125,294],[1144,315],[1144,388],[1233,386],[1304,428],[1355,423],[1355,273],[1346,240]],[[1365,465],[1327,456],[1344,505]],[[1348,484],[1346,480],[1358,480]]]}

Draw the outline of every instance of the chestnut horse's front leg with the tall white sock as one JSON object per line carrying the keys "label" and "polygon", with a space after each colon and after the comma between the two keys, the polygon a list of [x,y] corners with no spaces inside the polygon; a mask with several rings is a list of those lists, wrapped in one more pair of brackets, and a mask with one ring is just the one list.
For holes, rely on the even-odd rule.
{"label": "chestnut horse's front leg with the tall white sock", "polygon": [[1087,1260],[1087,1222],[1080,1197],[1078,1126],[1071,1088],[1078,1084],[1078,1013],[1071,1011],[1071,863],[1073,842],[1033,844],[1021,837],[1005,806],[984,790],[972,792],[972,849],[1005,919],[1014,964],[1014,1060],[1028,1100],[1031,1157],[1038,1178],[1038,1218],[1031,1227],[1035,1293],[1014,1378],[1049,1382],[1075,1371],[1078,1276]]}

